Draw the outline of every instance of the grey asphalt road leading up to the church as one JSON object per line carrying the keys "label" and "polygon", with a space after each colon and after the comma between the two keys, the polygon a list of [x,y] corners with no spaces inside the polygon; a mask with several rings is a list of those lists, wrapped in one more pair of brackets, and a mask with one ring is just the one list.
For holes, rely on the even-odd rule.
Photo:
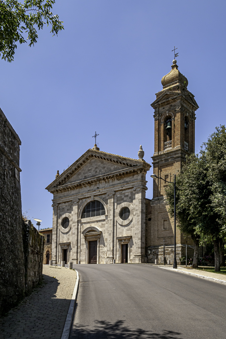
{"label": "grey asphalt road leading up to the church", "polygon": [[146,264],[77,265],[70,339],[225,339],[226,286]]}

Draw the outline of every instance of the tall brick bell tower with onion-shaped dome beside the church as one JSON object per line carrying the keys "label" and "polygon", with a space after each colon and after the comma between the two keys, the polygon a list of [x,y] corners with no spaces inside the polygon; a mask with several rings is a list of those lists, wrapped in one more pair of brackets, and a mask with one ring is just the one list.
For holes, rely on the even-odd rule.
{"label": "tall brick bell tower with onion-shaped dome beside the church", "polygon": [[[195,112],[199,108],[194,95],[187,89],[187,78],[178,70],[177,61],[173,60],[172,63],[171,71],[162,78],[162,91],[156,94],[156,100],[151,104],[155,110],[153,174],[167,181],[174,180],[174,174],[177,175],[181,171],[186,155],[194,152]],[[166,248],[166,259],[173,261],[173,248],[170,250],[174,241],[173,219],[167,212],[165,197],[167,182],[164,180],[153,180],[151,237],[148,241],[149,262],[160,258],[163,243]],[[176,242],[178,259],[183,255],[185,243],[178,229]]]}

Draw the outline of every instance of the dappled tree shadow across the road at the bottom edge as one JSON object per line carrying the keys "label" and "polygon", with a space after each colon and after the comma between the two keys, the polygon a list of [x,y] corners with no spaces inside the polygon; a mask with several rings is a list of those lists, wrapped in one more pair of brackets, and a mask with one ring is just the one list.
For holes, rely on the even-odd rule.
{"label": "dappled tree shadow across the road at the bottom edge", "polygon": [[125,326],[125,320],[117,320],[114,323],[109,321],[95,320],[95,325],[90,328],[88,325],[77,324],[71,329],[70,339],[182,339],[181,333],[162,330],[162,333],[152,331],[130,329]]}

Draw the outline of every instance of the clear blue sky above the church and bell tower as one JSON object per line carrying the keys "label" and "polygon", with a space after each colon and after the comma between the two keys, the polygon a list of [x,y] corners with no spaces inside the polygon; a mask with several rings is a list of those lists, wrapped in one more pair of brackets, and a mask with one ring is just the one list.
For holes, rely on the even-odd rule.
{"label": "clear blue sky above the church and bell tower", "polygon": [[[35,47],[1,60],[0,107],[19,135],[22,210],[52,227],[45,187],[99,133],[101,151],[153,155],[153,109],[170,69],[179,70],[199,105],[196,150],[225,124],[225,1],[57,0],[65,30],[39,32]],[[152,168],[147,198],[152,197]]]}

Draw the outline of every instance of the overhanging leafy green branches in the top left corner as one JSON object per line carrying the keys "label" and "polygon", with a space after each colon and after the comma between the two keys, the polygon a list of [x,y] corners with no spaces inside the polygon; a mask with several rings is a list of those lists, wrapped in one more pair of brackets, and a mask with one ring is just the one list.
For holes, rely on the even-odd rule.
{"label": "overhanging leafy green branches in the top left corner", "polygon": [[[13,61],[17,43],[29,41],[29,46],[37,42],[38,30],[44,24],[51,25],[50,33],[57,35],[63,28],[58,15],[51,10],[55,0],[0,0],[0,55],[8,62]],[[27,37],[24,37],[26,35]],[[25,40],[26,39],[26,40]]]}

